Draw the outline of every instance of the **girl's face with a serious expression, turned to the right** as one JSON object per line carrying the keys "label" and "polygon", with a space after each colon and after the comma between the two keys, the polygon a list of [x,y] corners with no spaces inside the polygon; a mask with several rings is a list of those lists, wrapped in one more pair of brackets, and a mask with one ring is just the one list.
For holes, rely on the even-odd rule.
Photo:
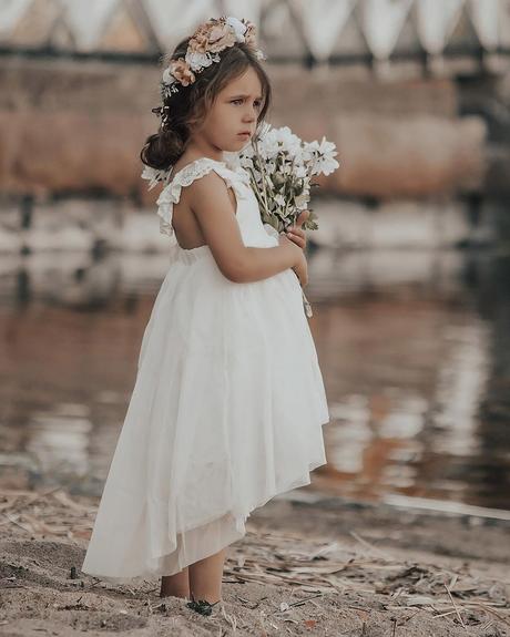
{"label": "girl's face with a serious expression, turned to the right", "polygon": [[[194,135],[221,151],[241,151],[255,133],[263,106],[262,86],[249,66],[232,80],[217,95],[201,129]],[[247,132],[248,135],[241,133]]]}

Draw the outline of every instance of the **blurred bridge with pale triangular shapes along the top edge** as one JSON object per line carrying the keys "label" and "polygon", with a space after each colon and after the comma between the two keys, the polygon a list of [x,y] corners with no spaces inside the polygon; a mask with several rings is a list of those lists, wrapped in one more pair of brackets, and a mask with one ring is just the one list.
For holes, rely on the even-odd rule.
{"label": "blurred bridge with pale triangular shapes along the top edge", "polygon": [[0,52],[154,60],[231,13],[258,25],[272,63],[441,74],[510,63],[510,0],[0,0]]}

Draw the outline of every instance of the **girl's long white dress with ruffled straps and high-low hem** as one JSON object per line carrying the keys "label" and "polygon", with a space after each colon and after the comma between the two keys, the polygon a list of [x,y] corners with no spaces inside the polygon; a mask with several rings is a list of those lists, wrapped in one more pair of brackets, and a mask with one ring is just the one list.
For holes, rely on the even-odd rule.
{"label": "girl's long white dress with ruffled straps and high-low hem", "polygon": [[326,463],[329,413],[295,273],[233,282],[208,246],[176,242],[173,204],[212,169],[234,191],[243,243],[278,245],[239,166],[201,157],[160,194],[170,268],[81,568],[112,582],[216,553],[246,533],[251,511]]}

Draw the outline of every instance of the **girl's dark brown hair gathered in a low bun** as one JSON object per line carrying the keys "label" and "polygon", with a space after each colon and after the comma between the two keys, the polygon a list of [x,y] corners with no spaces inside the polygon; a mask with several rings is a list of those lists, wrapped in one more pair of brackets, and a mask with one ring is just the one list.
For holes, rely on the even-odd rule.
{"label": "girl's dark brown hair gathered in a low bun", "polygon": [[[192,37],[184,39],[166,60],[177,60],[186,54],[187,43]],[[195,81],[187,86],[178,85],[176,93],[163,101],[169,106],[169,115],[160,131],[150,135],[140,153],[144,164],[156,169],[167,169],[184,153],[191,134],[191,126],[200,124],[213,105],[217,94],[235,78],[252,66],[261,81],[263,106],[257,116],[257,129],[264,121],[271,105],[271,82],[254,50],[244,42],[236,42],[220,52],[221,61],[213,62],[195,75]]]}

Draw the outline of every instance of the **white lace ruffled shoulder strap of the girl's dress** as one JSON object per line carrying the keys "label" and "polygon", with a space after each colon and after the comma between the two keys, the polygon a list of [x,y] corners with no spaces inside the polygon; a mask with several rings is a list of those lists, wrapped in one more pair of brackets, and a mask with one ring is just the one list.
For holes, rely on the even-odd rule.
{"label": "white lace ruffled shoulder strap of the girl's dress", "polygon": [[233,188],[236,198],[245,198],[249,192],[249,175],[242,168],[228,168],[225,162],[218,162],[211,157],[198,157],[172,176],[170,172],[167,185],[161,191],[157,197],[157,214],[160,215],[160,232],[175,239],[175,232],[172,226],[173,206],[181,198],[181,191],[195,179],[203,177],[211,171],[215,171],[225,182],[228,188]]}

